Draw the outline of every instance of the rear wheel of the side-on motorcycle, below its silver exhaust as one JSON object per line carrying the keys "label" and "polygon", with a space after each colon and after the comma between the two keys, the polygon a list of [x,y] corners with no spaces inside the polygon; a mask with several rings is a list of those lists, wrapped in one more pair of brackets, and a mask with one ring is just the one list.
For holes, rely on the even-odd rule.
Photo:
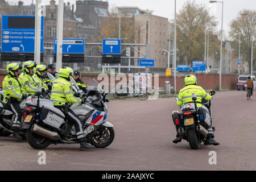
{"label": "rear wheel of the side-on motorcycle, below its silver exhaust", "polygon": [[51,144],[51,140],[48,138],[42,137],[38,134],[35,134],[31,131],[31,129],[28,129],[26,132],[27,142],[30,144],[31,147],[35,149],[44,149]]}

